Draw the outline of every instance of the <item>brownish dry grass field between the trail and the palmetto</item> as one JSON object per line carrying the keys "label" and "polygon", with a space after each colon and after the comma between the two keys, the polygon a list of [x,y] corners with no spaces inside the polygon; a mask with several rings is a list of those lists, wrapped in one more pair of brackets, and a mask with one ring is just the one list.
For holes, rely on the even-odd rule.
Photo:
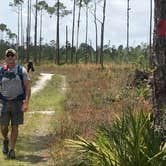
{"label": "brownish dry grass field between the trail and the palmetto", "polygon": [[[93,139],[98,125],[111,123],[113,114],[121,114],[127,107],[133,110],[151,110],[151,104],[127,87],[132,80],[133,66],[110,64],[104,70],[96,65],[42,65],[45,72],[67,76],[68,91],[64,113],[56,128],[53,156],[56,165],[63,165],[69,154],[63,145],[66,138]],[[62,164],[63,163],[63,164]],[[64,164],[65,165],[65,164]]]}

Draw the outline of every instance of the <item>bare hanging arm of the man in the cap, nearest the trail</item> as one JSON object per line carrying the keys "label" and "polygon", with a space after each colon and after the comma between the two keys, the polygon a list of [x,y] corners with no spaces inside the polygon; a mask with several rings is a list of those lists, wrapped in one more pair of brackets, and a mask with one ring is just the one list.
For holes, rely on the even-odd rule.
{"label": "bare hanging arm of the man in the cap, nearest the trail", "polygon": [[26,112],[28,110],[28,105],[29,105],[29,99],[31,96],[31,82],[30,80],[24,80],[24,86],[25,86],[25,100],[23,100],[23,105],[22,105],[22,111]]}

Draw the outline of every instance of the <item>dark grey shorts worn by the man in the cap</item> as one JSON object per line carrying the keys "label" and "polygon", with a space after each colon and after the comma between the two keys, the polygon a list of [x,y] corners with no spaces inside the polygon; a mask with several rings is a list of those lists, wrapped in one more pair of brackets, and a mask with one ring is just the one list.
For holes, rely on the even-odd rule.
{"label": "dark grey shorts worn by the man in the cap", "polygon": [[0,125],[19,125],[24,122],[24,113],[21,111],[23,102],[20,100],[5,101],[0,110]]}

